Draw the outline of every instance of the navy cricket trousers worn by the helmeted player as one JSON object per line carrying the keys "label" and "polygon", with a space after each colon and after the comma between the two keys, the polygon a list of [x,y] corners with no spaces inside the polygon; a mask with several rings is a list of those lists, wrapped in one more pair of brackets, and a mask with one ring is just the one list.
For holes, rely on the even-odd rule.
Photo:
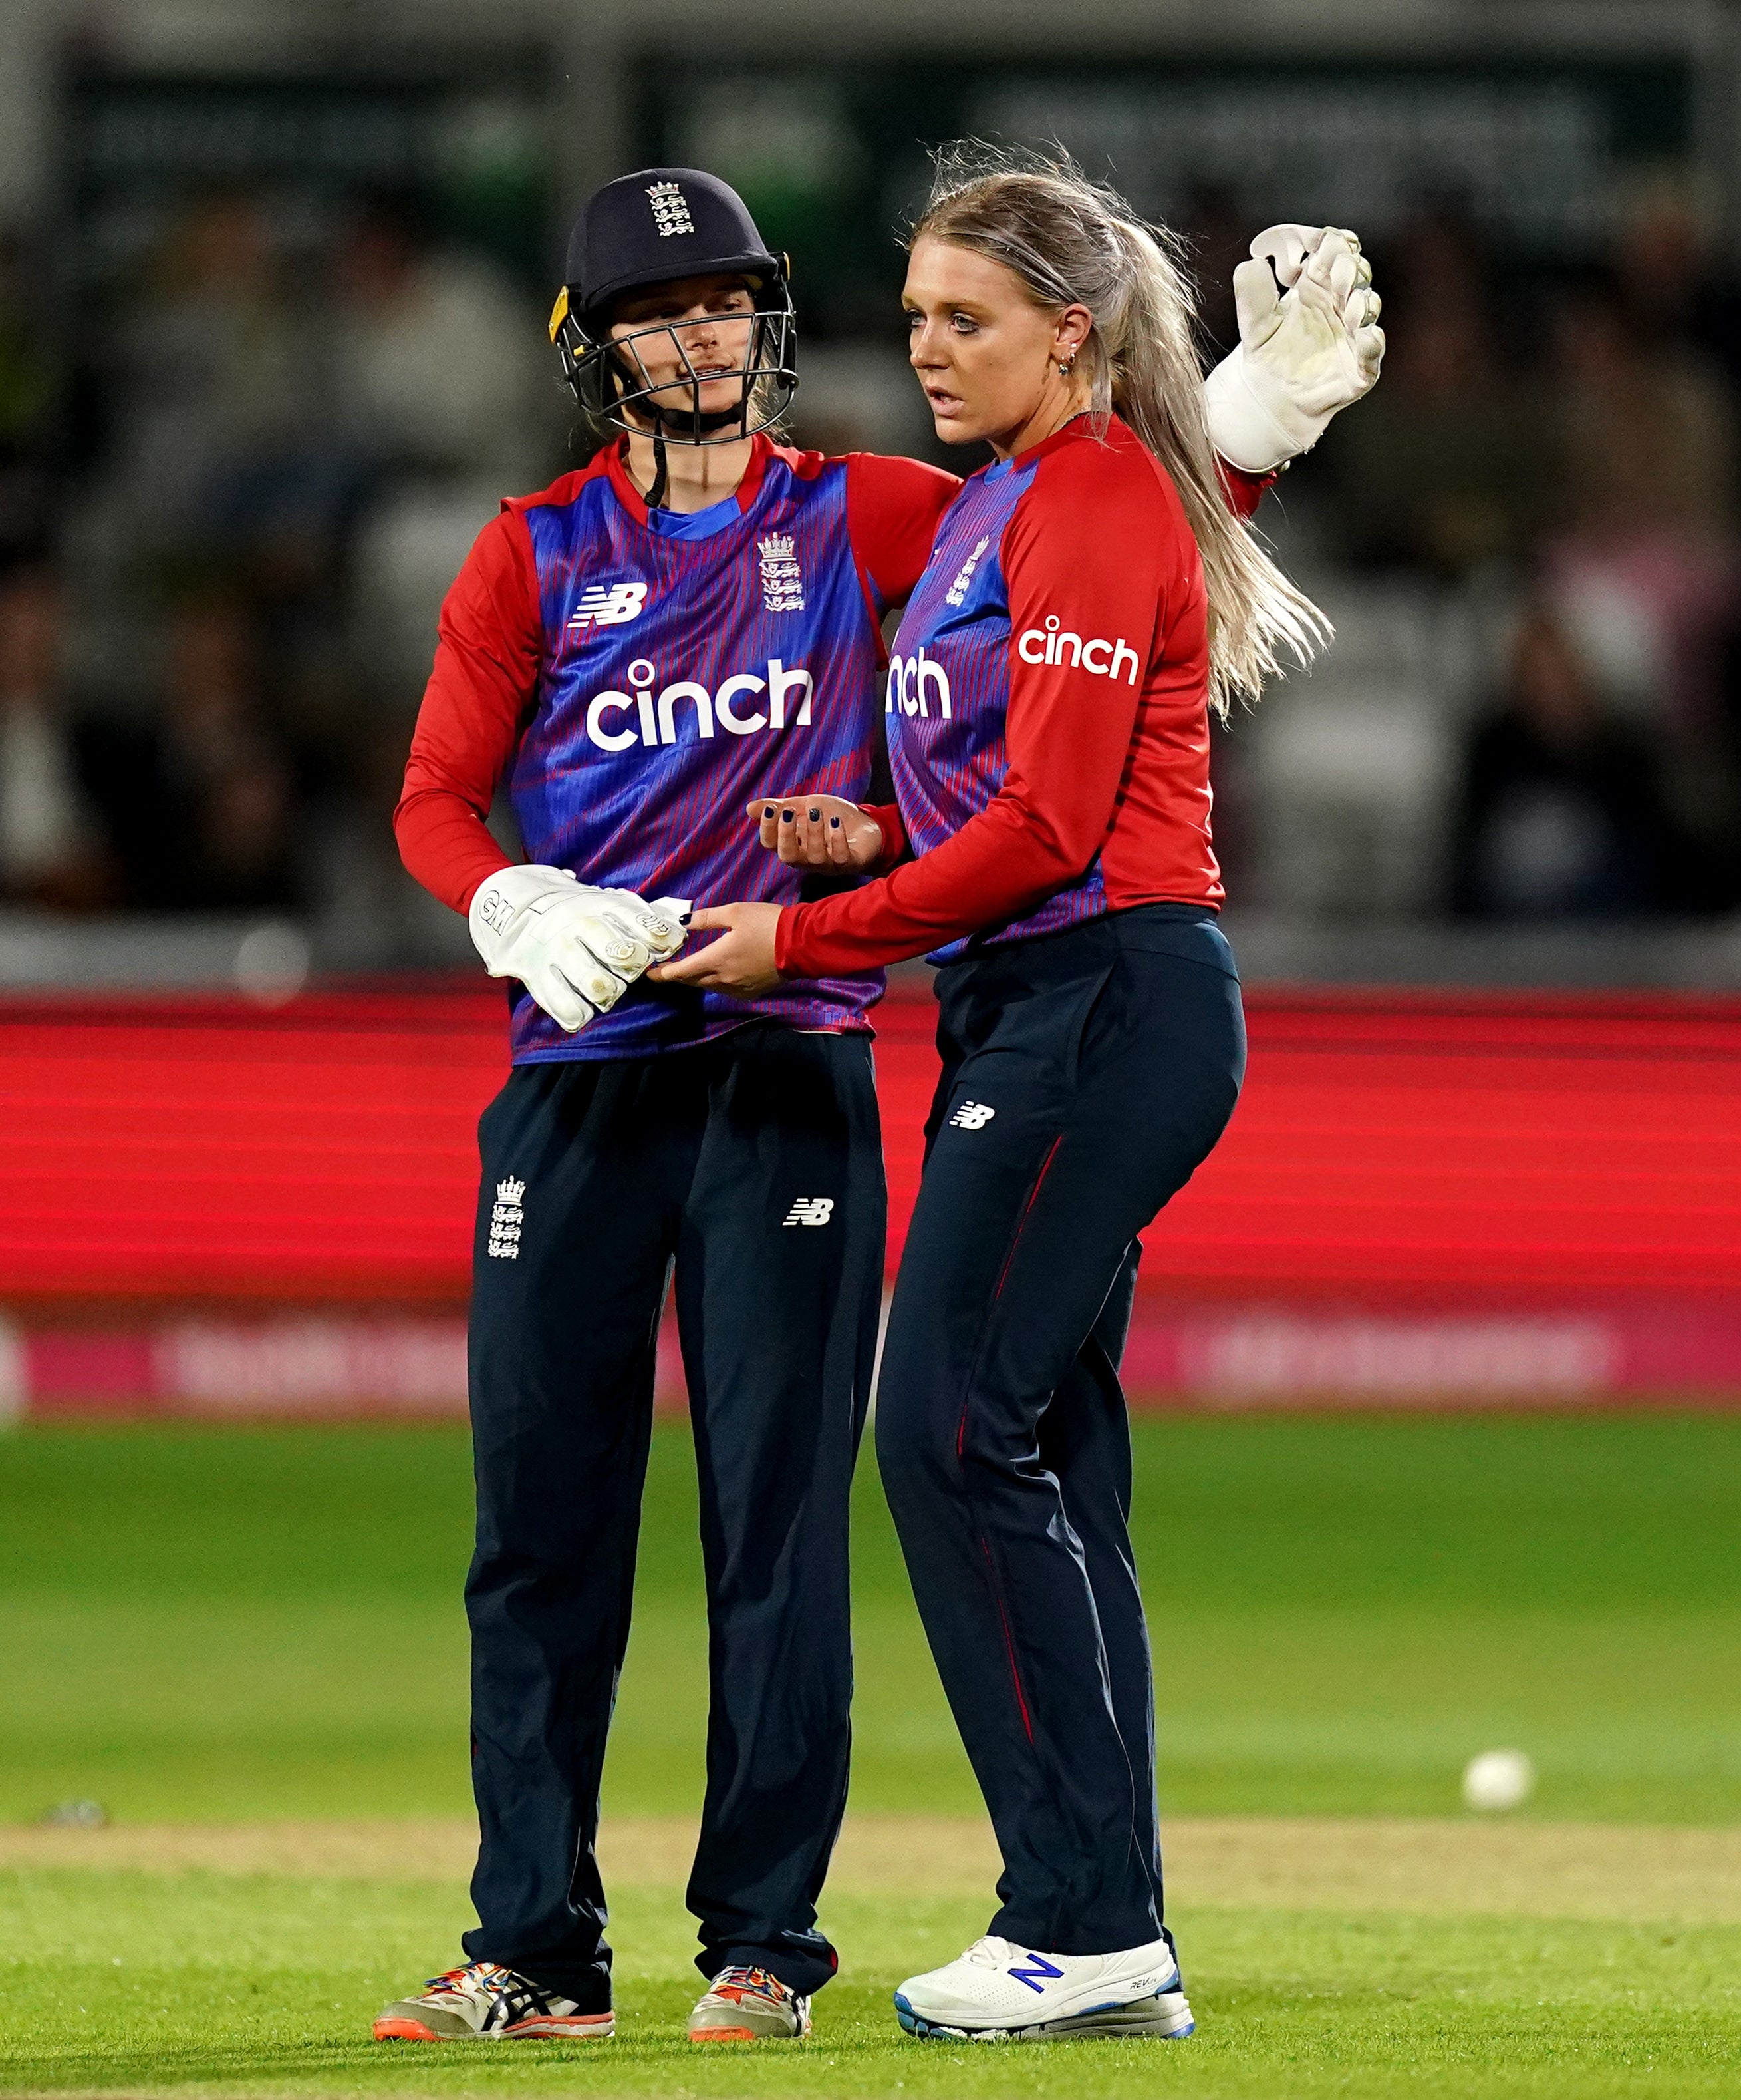
{"label": "navy cricket trousers worn by the helmeted player", "polygon": [[870,1040],[749,1023],[522,1065],[478,1138],[466,1953],[610,2006],[598,1783],[675,1260],[709,1615],[696,1966],[814,1991],[835,1970],[816,1894],[845,1806],[847,1502],[883,1279]]}

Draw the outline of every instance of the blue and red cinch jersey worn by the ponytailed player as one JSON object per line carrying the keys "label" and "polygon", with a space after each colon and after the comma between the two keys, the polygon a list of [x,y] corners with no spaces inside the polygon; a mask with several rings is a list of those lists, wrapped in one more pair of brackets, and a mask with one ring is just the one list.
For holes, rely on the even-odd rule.
{"label": "blue and red cinch jersey worn by the ponytailed player", "polygon": [[[1248,512],[1265,485],[1229,477],[1229,502]],[[963,485],[900,624],[885,722],[915,859],[782,911],[782,970],[1219,907],[1202,556],[1118,418],[1078,416]]]}

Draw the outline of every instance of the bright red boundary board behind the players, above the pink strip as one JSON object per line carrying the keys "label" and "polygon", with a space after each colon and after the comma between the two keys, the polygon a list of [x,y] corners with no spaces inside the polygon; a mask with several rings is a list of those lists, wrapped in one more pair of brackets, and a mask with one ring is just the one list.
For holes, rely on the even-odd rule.
{"label": "bright red boundary board behind the players, above the pink strip", "polygon": [[[1227,1138],[1145,1235],[1158,1306],[1741,1302],[1741,1000],[1259,991],[1248,1012]],[[894,1262],[931,1004],[877,1023]],[[0,1300],[457,1306],[503,1071],[503,998],[470,979],[275,1012],[8,1002]]]}

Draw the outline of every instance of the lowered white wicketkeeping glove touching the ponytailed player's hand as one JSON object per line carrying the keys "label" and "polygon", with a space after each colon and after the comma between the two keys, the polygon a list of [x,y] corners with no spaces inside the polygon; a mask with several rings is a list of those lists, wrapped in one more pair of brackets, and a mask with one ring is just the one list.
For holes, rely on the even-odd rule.
{"label": "lowered white wicketkeeping glove touching the ponytailed player's hand", "polygon": [[560,1027],[608,1012],[652,962],[686,941],[682,897],[646,903],[600,890],[566,867],[503,867],[472,899],[472,945],[491,976],[518,976]]}

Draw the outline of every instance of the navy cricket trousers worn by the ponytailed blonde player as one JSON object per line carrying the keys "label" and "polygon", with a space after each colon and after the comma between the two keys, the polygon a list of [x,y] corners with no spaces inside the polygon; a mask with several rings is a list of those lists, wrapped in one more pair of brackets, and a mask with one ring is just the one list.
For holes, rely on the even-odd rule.
{"label": "navy cricket trousers worn by the ponytailed blonde player", "polygon": [[950,964],[938,1000],[877,1457],[1003,1852],[990,1930],[1112,1953],[1162,1934],[1118,1359],[1137,1233],[1240,1092],[1240,985],[1215,914],[1143,905]]}

